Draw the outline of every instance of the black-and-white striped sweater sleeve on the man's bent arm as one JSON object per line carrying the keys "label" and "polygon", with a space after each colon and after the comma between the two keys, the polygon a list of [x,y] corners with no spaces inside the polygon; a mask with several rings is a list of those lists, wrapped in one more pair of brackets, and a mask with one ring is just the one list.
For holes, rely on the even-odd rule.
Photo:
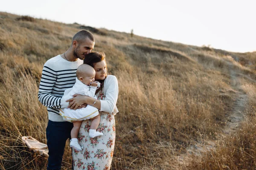
{"label": "black-and-white striped sweater sleeve on the man's bent arm", "polygon": [[49,68],[46,63],[42,71],[38,100],[48,108],[61,108],[61,97],[57,97],[51,94],[56,79],[56,72]]}

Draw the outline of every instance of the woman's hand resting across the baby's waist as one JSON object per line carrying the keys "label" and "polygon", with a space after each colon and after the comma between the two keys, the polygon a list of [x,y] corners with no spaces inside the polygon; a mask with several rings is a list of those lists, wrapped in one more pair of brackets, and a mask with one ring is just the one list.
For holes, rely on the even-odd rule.
{"label": "woman's hand resting across the baby's waist", "polygon": [[88,96],[82,96],[80,94],[74,94],[73,98],[66,100],[66,102],[69,102],[69,105],[67,108],[70,109],[78,109],[78,108],[85,108],[87,105],[86,104],[86,99]]}

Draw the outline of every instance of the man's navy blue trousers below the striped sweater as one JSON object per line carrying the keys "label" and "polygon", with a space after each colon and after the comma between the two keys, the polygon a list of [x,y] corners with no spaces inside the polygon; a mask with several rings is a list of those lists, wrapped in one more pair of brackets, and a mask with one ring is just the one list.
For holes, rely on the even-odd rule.
{"label": "man's navy blue trousers below the striped sweater", "polygon": [[49,150],[47,170],[60,170],[61,161],[67,139],[70,139],[70,132],[73,123],[48,121],[46,128],[47,146]]}

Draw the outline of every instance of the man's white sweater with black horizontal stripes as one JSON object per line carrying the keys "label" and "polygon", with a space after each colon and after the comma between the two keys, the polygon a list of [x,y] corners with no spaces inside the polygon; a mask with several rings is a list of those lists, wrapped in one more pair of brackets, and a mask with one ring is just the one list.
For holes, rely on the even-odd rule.
{"label": "man's white sweater with black horizontal stripes", "polygon": [[77,59],[69,62],[58,55],[49,59],[42,71],[39,86],[38,99],[47,106],[48,118],[54,122],[63,122],[59,115],[60,108],[66,108],[68,102],[61,97],[67,88],[72,88],[76,82],[76,69],[83,64],[83,60]]}

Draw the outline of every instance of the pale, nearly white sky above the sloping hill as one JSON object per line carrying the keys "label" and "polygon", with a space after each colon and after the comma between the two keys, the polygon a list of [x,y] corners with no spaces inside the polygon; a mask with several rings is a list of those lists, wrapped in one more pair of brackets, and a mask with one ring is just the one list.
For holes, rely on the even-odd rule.
{"label": "pale, nearly white sky above the sloping hill", "polygon": [[256,51],[256,0],[1,0],[0,11],[234,52]]}

